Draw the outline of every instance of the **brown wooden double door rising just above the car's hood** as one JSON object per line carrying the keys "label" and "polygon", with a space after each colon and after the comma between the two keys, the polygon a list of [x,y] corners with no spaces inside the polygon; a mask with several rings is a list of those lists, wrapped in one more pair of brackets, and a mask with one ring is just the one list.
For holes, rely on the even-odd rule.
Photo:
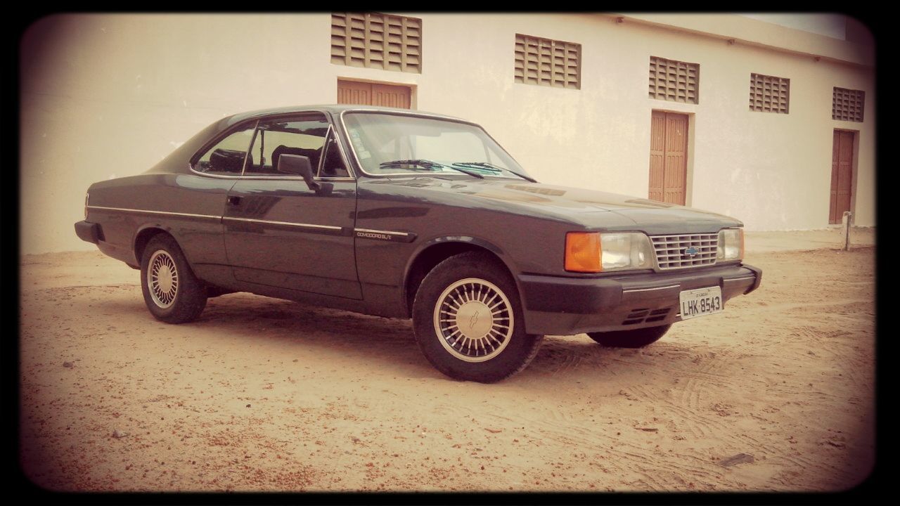
{"label": "brown wooden double door rising just above the car's hood", "polygon": [[688,114],[653,111],[648,194],[651,200],[685,204],[688,195]]}

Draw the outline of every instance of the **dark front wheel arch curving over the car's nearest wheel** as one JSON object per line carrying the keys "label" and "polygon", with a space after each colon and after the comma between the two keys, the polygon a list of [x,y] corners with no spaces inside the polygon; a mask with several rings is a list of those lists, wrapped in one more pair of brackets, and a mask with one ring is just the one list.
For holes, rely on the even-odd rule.
{"label": "dark front wheel arch curving over the car's nearest wheel", "polygon": [[447,258],[467,251],[482,251],[496,258],[516,285],[521,298],[521,287],[514,274],[516,271],[511,267],[511,262],[503,250],[491,241],[469,236],[437,237],[422,243],[416,252],[410,255],[410,260],[403,271],[403,303],[404,312],[408,317],[412,315],[412,302],[419,291],[419,285],[431,269]]}

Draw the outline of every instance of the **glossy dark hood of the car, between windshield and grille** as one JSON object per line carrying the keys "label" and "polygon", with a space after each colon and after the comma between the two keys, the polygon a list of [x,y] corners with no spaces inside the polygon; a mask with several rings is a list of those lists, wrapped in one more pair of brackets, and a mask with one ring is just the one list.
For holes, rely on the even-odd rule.
{"label": "glossy dark hood of the car, between windshield and grille", "polygon": [[[439,194],[444,197],[468,195],[480,201],[483,207],[493,210],[573,221],[588,228],[636,228],[649,233],[668,233],[669,231],[674,233],[677,230],[716,231],[726,226],[743,225],[740,221],[723,214],[701,211],[674,203],[510,179],[468,180],[425,176],[402,180],[383,180],[380,183],[413,186],[419,192],[425,191],[433,194],[437,200],[444,200],[439,197]],[[459,203],[457,199],[452,200]],[[614,213],[622,219],[611,219],[612,217],[608,213]],[[610,227],[611,223],[615,223],[615,225]]]}

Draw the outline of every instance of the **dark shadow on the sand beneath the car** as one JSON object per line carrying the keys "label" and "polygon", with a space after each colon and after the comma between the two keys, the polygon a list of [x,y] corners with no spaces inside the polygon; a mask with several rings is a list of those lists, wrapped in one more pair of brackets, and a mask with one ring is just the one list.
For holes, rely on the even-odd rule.
{"label": "dark shadow on the sand beneath the car", "polygon": [[[136,313],[142,320],[154,321],[142,301],[131,295],[104,304],[104,312]],[[383,362],[386,369],[412,378],[446,379],[434,369],[419,351],[410,320],[389,319],[307,306],[269,297],[238,293],[210,299],[200,318],[181,325],[162,325],[162,329],[191,329],[210,333],[211,339],[258,339],[296,345],[295,355],[314,355],[303,348],[316,348],[316,353],[339,353],[360,361]],[[165,330],[164,330],[165,331]],[[686,356],[687,348],[677,342],[659,343],[642,349],[604,348],[586,335],[546,336],[536,357],[525,370],[503,383],[530,382],[590,375],[598,379],[610,376],[639,376],[645,369],[666,367],[667,354]],[[676,374],[676,371],[670,371]]]}

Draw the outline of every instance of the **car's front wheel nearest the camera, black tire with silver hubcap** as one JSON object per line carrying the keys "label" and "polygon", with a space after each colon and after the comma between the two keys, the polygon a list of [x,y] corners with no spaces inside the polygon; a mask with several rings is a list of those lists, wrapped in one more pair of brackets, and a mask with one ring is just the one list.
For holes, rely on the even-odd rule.
{"label": "car's front wheel nearest the camera, black tire with silver hubcap", "polygon": [[[465,333],[456,325],[460,321]],[[506,268],[480,252],[455,255],[431,269],[416,293],[412,325],[432,366],[454,379],[480,383],[524,369],[544,339],[525,332],[518,290]]]}

